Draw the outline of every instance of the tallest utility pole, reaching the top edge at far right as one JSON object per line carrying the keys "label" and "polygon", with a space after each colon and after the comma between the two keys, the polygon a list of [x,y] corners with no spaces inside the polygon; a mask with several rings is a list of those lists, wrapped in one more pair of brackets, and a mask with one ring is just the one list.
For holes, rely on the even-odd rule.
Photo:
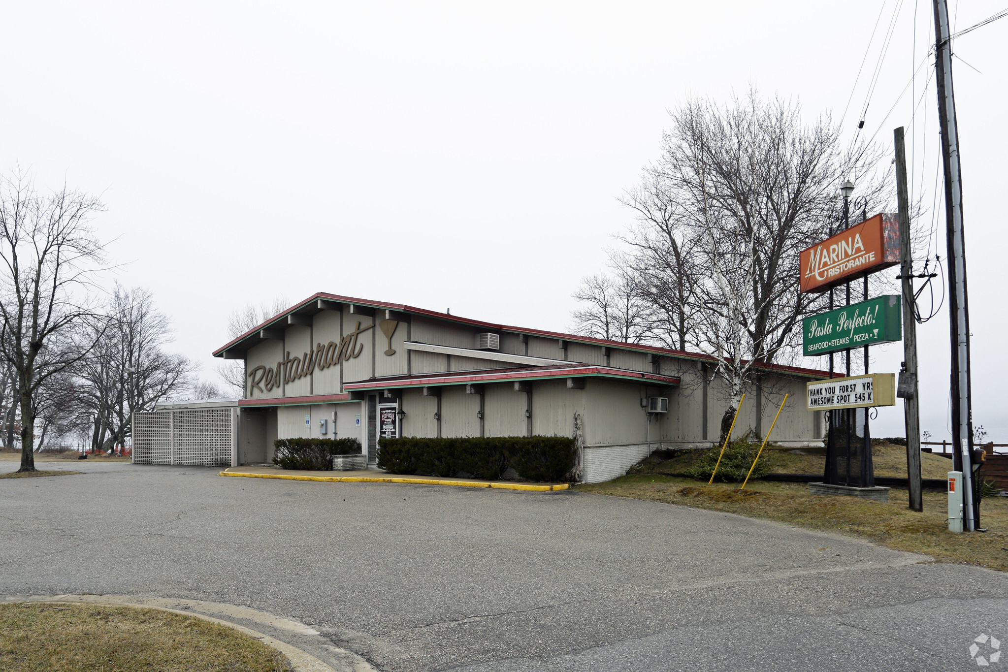
{"label": "tallest utility pole, reaching the top edge at far right", "polygon": [[[947,0],[934,0],[934,70],[944,164],[946,243],[949,260],[949,326],[952,342],[952,441],[955,468],[963,472],[964,527],[973,532],[980,519],[974,497],[973,410],[970,400],[970,309],[966,288],[966,243],[963,236],[963,176],[959,160],[959,128],[952,84],[952,43]],[[907,437],[909,438],[909,437]],[[976,503],[975,503],[976,502]]]}

